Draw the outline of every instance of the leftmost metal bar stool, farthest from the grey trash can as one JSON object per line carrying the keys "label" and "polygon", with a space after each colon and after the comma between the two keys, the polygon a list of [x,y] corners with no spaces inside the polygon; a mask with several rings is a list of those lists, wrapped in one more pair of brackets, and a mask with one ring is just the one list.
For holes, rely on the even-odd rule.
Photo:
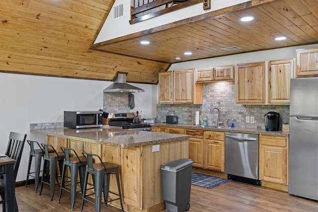
{"label": "leftmost metal bar stool, farthest from the grey trash can", "polygon": [[[28,172],[26,174],[26,181],[25,181],[25,188],[27,186],[29,177],[33,177],[35,180],[34,184],[35,184],[35,192],[38,191],[38,186],[39,186],[39,180],[40,180],[40,172],[41,172],[41,160],[42,157],[44,156],[44,150],[41,147],[41,145],[37,142],[37,141],[30,141],[27,140],[27,142],[30,145],[30,156],[29,156],[29,164],[28,164]],[[37,145],[38,147],[40,147],[39,149],[35,149],[34,145]],[[54,152],[53,149],[49,149],[49,153]],[[30,172],[31,169],[31,163],[32,163],[32,158],[34,157],[34,172]],[[34,175],[33,175],[34,174]]]}

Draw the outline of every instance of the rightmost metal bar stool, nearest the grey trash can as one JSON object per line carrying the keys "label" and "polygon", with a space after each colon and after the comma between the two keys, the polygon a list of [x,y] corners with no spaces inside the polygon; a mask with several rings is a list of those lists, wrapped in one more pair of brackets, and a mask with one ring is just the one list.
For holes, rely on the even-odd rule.
{"label": "rightmost metal bar stool, nearest the grey trash can", "polygon": [[[84,207],[84,200],[92,203],[95,205],[95,212],[100,212],[101,208],[101,193],[103,191],[104,194],[104,201],[106,207],[107,203],[115,200],[120,201],[120,206],[121,206],[121,211],[124,212],[123,208],[123,203],[122,203],[122,198],[121,198],[121,192],[120,192],[120,182],[119,182],[119,173],[118,173],[118,165],[114,163],[107,163],[103,162],[99,155],[97,154],[92,154],[88,152],[82,152],[83,155],[87,159],[87,166],[85,170],[85,178],[84,178],[84,187],[83,187],[83,192],[82,192],[82,199],[81,199],[81,207],[80,207],[80,212],[82,212],[83,207]],[[93,156],[97,157],[99,159],[98,163],[93,162]],[[93,188],[94,192],[92,194],[86,195],[86,190],[87,190],[87,179],[88,175],[91,174],[93,178]],[[108,190],[109,188],[109,174],[115,174],[116,180],[117,180],[117,188],[118,188],[118,194],[115,194],[111,191]],[[93,177],[94,176],[94,177]],[[113,200],[108,200],[108,193],[112,193],[118,196],[117,199]],[[92,201],[86,199],[86,197],[91,196],[95,194],[95,203]]]}

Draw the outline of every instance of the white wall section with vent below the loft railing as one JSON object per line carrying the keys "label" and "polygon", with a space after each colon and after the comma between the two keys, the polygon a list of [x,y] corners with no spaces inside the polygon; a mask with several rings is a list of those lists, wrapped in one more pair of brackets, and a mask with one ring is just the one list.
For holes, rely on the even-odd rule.
{"label": "white wall section with vent below the loft railing", "polygon": [[94,43],[100,43],[113,38],[118,38],[135,32],[140,32],[149,29],[149,26],[151,26],[152,28],[161,26],[185,18],[200,15],[206,12],[211,12],[217,9],[239,4],[245,1],[246,0],[212,0],[211,9],[208,10],[203,10],[203,4],[198,3],[139,23],[129,24],[130,0],[116,0],[114,2],[114,6],[117,6],[122,3],[124,4],[124,16],[114,20],[114,13],[112,7]]}

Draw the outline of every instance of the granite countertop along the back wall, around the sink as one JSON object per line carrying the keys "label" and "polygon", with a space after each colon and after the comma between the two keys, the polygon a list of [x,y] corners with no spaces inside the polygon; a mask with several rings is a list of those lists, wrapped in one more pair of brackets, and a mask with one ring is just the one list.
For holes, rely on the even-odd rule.
{"label": "granite countertop along the back wall, around the sink", "polygon": [[247,134],[257,134],[257,135],[269,135],[269,136],[289,136],[289,133],[283,131],[265,131],[264,129],[256,128],[226,128],[226,129],[217,129],[210,127],[198,127],[195,125],[189,124],[167,124],[158,122],[152,124],[152,127],[170,127],[170,128],[186,128],[194,130],[204,130],[204,131],[218,131],[218,132],[233,132],[233,133],[247,133]]}

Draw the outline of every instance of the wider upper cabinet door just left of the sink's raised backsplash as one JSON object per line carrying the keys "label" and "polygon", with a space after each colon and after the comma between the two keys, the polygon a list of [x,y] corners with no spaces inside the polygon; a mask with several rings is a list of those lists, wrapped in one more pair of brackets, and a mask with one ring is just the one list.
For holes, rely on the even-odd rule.
{"label": "wider upper cabinet door just left of the sink's raised backsplash", "polygon": [[194,70],[173,71],[173,103],[194,102]]}

